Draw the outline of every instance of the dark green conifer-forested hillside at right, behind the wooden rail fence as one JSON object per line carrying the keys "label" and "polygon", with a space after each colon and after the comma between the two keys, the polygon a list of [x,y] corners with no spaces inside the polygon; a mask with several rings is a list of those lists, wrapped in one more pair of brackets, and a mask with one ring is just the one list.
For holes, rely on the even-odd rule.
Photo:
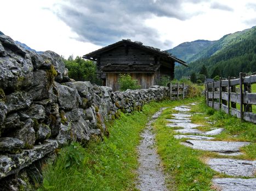
{"label": "dark green conifer-forested hillside at right, behind the wooden rail fence", "polygon": [[256,71],[256,27],[242,32],[225,35],[217,43],[200,53],[201,59],[189,64],[189,67],[177,66],[175,78],[197,74],[203,65],[207,77],[238,76]]}

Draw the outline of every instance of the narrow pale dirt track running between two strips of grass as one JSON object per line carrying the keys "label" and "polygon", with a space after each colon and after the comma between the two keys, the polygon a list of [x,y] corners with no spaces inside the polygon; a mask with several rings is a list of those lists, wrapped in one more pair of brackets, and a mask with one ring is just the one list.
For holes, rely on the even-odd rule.
{"label": "narrow pale dirt track running between two strips of grass", "polygon": [[155,134],[152,133],[152,122],[161,115],[166,108],[161,108],[154,114],[151,120],[146,124],[144,131],[140,134],[142,140],[138,146],[139,152],[139,169],[138,182],[136,188],[141,191],[165,191],[167,190],[164,183],[164,174],[161,166],[160,157],[155,147]]}

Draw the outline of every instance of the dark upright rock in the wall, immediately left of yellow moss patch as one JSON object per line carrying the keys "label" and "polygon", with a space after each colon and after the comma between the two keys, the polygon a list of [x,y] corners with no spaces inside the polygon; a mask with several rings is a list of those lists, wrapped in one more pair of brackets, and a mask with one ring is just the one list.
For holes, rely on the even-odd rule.
{"label": "dark upright rock in the wall, immediately left of yellow moss patch", "polygon": [[33,100],[49,99],[50,82],[47,72],[37,70],[33,72],[33,85],[29,90]]}

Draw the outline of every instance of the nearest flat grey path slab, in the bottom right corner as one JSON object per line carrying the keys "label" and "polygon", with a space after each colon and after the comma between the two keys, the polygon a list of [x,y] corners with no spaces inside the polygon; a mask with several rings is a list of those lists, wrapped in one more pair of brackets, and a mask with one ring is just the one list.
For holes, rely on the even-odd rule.
{"label": "nearest flat grey path slab, in the bottom right corner", "polygon": [[256,178],[214,178],[213,186],[222,191],[253,191],[256,188]]}

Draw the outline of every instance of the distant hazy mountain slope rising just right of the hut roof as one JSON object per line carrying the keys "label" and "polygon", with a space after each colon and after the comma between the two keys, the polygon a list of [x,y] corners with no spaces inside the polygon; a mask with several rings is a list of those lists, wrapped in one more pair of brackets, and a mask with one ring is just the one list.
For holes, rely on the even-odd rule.
{"label": "distant hazy mountain slope rising just right of the hut roof", "polygon": [[172,53],[172,55],[177,56],[179,59],[182,59],[185,62],[189,62],[195,55],[197,55],[197,53],[201,52],[214,43],[215,41],[195,40],[182,43],[167,51]]}

